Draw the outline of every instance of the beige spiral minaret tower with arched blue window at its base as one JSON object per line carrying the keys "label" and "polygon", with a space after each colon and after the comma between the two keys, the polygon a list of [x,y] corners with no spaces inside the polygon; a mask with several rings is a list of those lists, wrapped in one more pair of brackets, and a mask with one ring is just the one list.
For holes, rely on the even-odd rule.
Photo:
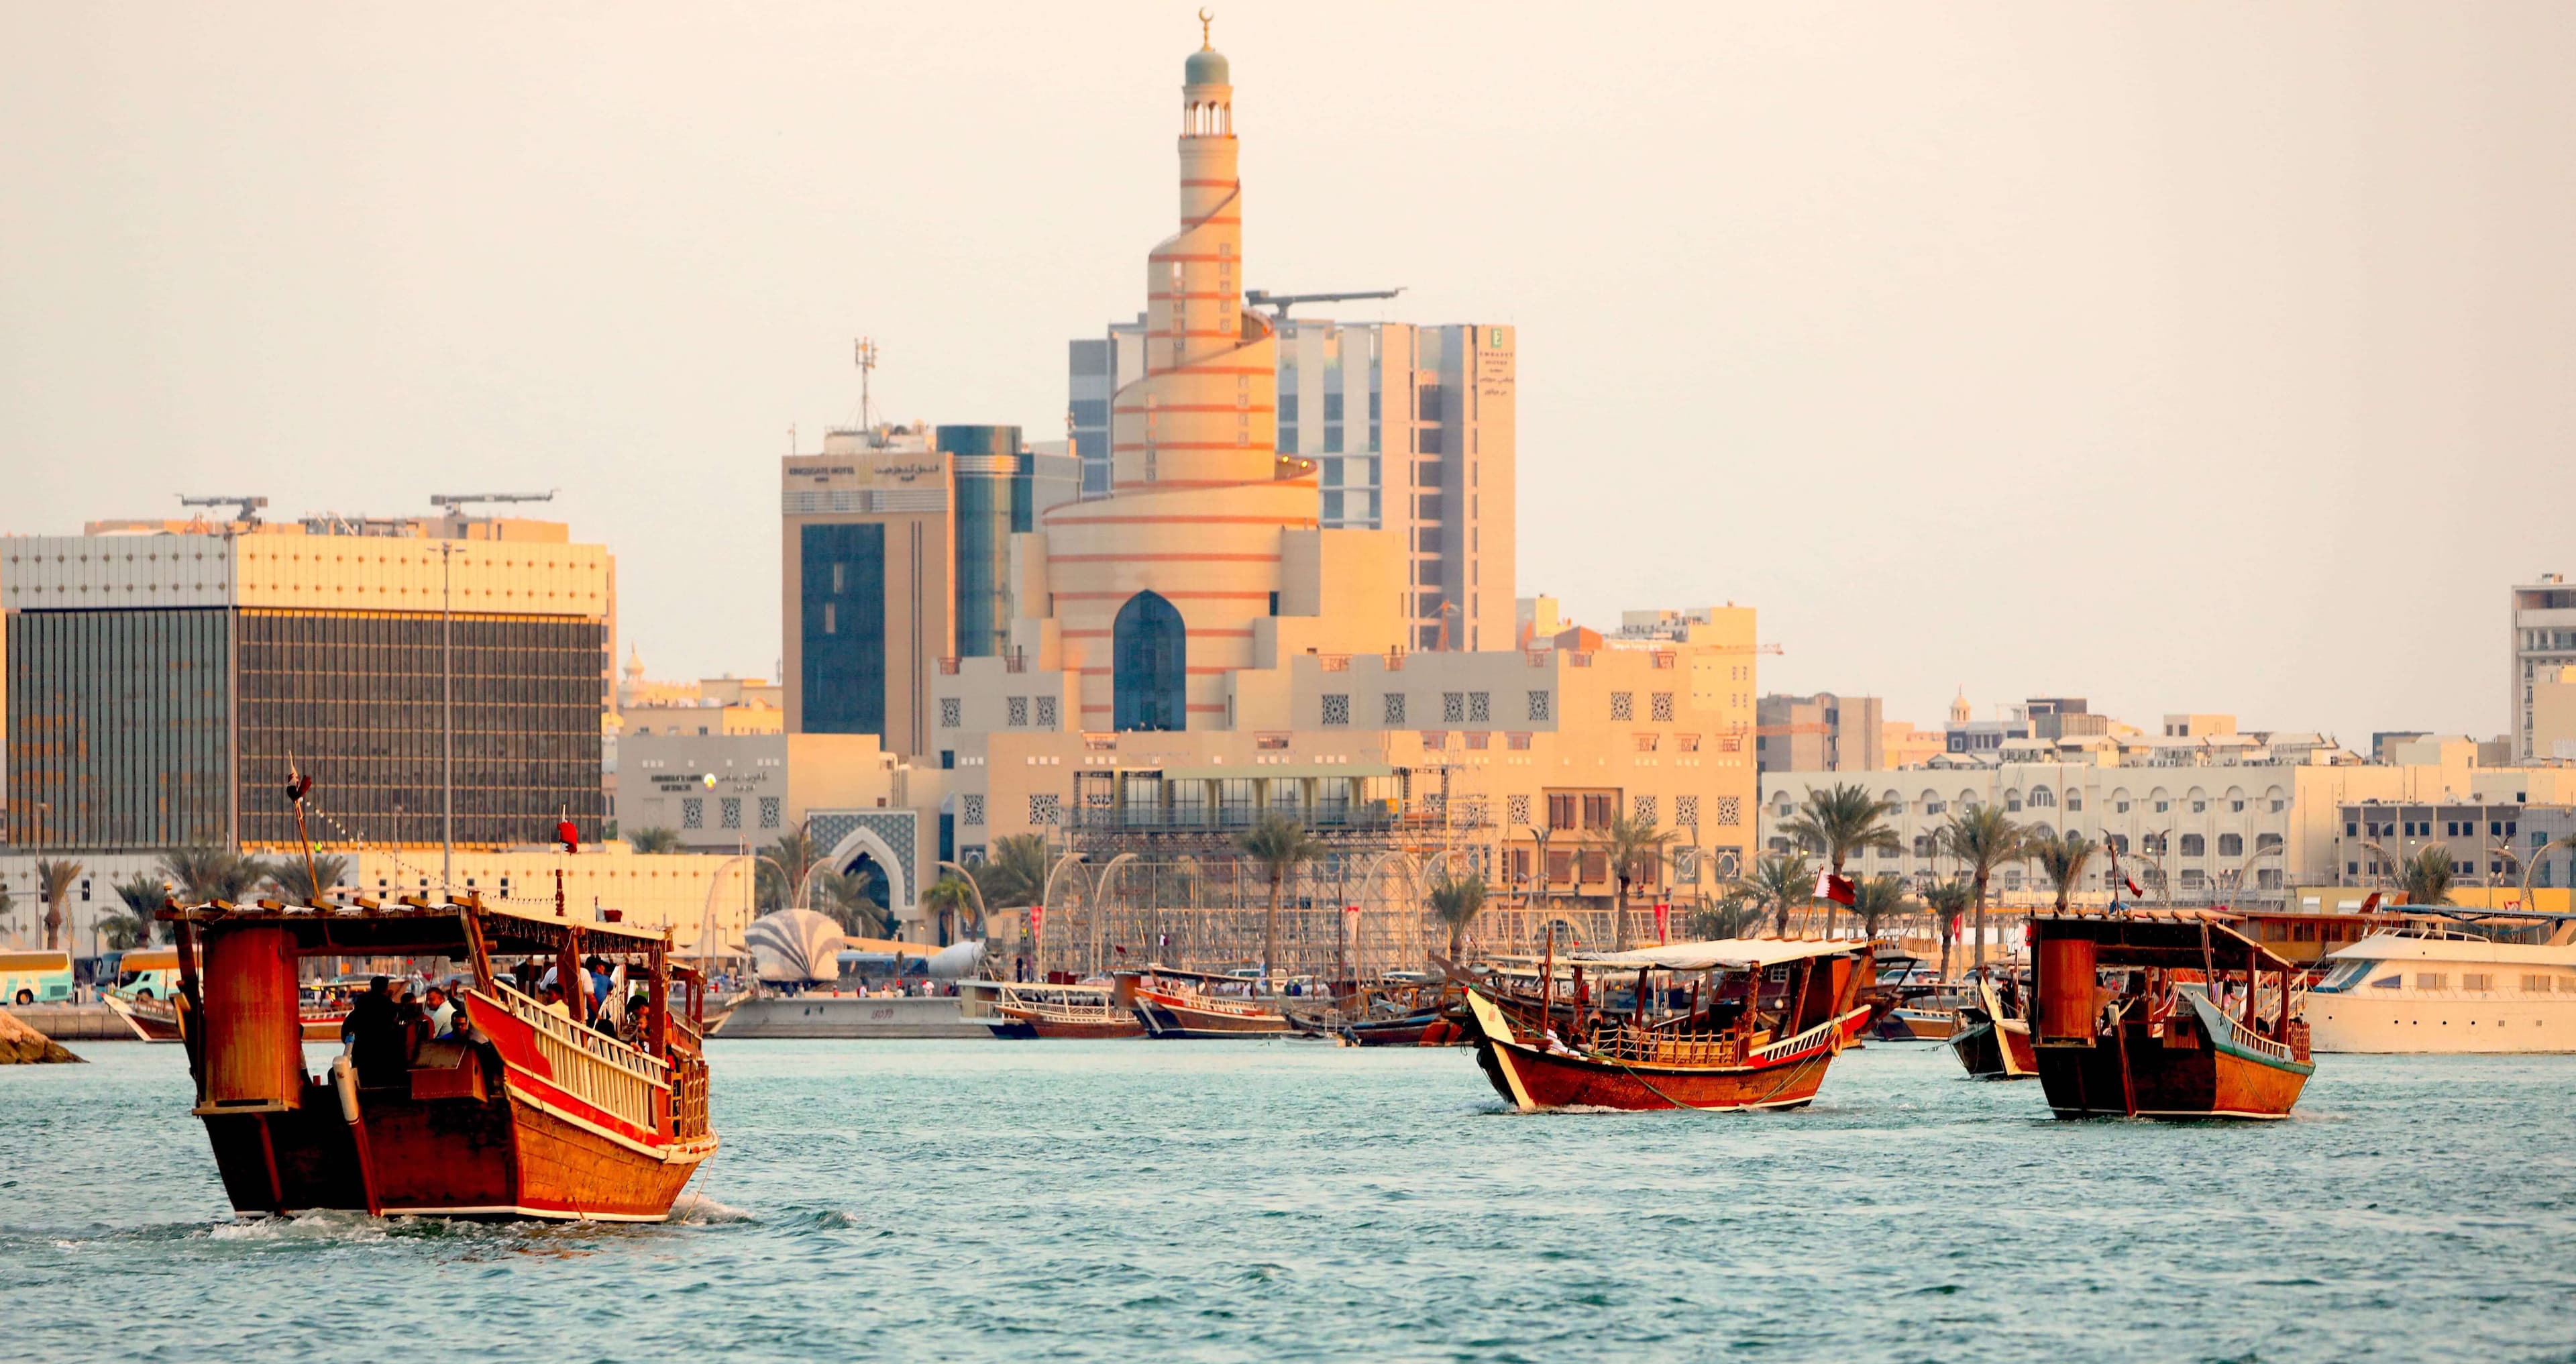
{"label": "beige spiral minaret tower with arched blue window at its base", "polygon": [[[1082,670],[1084,730],[1226,727],[1226,673],[1252,663],[1252,621],[1273,611],[1280,536],[1319,513],[1311,467],[1278,456],[1270,320],[1242,304],[1234,85],[1213,46],[1190,54],[1180,111],[1180,232],[1146,255],[1146,374],[1110,407],[1113,490],[1046,518],[1051,614]],[[1118,665],[1136,642],[1121,614],[1139,609],[1180,614],[1167,634],[1182,658],[1157,658],[1185,678],[1182,714],[1121,712],[1121,678],[1139,673]]]}

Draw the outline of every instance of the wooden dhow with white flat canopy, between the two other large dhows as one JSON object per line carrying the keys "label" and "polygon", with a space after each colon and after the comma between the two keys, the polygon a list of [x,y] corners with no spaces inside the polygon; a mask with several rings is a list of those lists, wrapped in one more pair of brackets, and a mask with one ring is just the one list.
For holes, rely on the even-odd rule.
{"label": "wooden dhow with white flat canopy, between the two other large dhows", "polygon": [[1636,972],[1628,1008],[1579,1006],[1558,1034],[1548,1026],[1558,1016],[1553,962],[1535,1011],[1528,1000],[1507,1011],[1484,988],[1466,995],[1476,1062],[1525,1114],[1798,1109],[1870,1018],[1860,1000],[1868,944],[1857,941],[1718,939],[1569,962],[1600,980]]}

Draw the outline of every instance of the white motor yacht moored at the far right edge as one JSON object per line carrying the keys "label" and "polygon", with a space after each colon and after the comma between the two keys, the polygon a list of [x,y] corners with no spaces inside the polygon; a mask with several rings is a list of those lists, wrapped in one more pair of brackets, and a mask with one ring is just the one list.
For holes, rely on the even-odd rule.
{"label": "white motor yacht moored at the far right edge", "polygon": [[2576,1052],[2576,941],[2372,933],[2308,998],[2318,1052]]}

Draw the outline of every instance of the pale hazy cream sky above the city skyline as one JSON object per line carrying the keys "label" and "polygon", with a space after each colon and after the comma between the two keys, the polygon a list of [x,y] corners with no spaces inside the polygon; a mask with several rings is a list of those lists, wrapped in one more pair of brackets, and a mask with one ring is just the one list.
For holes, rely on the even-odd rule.
{"label": "pale hazy cream sky above the city skyline", "polygon": [[[778,464],[1064,428],[1195,5],[0,0],[0,531],[562,487],[768,673]],[[2494,735],[2576,572],[2576,5],[1224,3],[1247,284],[1520,327],[1520,590],[1937,722]]]}

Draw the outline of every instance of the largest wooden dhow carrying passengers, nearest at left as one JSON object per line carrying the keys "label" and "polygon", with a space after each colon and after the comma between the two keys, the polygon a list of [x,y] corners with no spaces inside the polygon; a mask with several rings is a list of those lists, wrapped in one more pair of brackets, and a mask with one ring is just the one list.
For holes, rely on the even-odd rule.
{"label": "largest wooden dhow carrying passengers, nearest at left", "polygon": [[[662,931],[404,897],[358,908],[209,902],[165,908],[180,954],[180,1034],[196,1116],[245,1214],[358,1209],[420,1217],[659,1222],[716,1153],[696,1011],[703,980],[670,962]],[[448,957],[464,962],[459,1039],[363,1037],[322,1075],[304,1067],[296,962]],[[626,1039],[592,1026],[592,993],[541,1006],[495,957],[623,967],[647,993]],[[690,1016],[672,1008],[688,993]],[[556,1011],[564,1008],[564,1011]]]}

